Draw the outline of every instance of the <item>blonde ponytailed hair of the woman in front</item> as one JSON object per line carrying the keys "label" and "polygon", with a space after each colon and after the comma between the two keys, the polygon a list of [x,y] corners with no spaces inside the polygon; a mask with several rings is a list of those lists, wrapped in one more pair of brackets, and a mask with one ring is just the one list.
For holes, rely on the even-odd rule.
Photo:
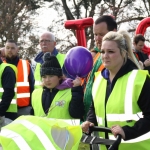
{"label": "blonde ponytailed hair of the woman in front", "polygon": [[110,31],[103,37],[103,41],[115,41],[120,49],[121,55],[125,58],[125,62],[128,57],[139,69],[141,69],[140,64],[133,54],[131,38],[127,31]]}

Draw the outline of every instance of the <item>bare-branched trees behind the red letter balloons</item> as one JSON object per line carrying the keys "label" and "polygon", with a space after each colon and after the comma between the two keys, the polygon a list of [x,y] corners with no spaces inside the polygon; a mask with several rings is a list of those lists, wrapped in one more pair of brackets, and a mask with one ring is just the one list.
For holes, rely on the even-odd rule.
{"label": "bare-branched trees behind the red letter balloons", "polygon": [[[54,10],[60,10],[58,12],[57,19],[50,25],[49,29],[56,33],[56,35],[62,35],[63,31],[68,32],[66,37],[61,39],[60,47],[62,51],[67,52],[68,45],[75,46],[68,40],[72,36],[75,36],[74,31],[66,31],[64,28],[59,30],[60,26],[63,26],[65,20],[74,20],[86,17],[98,17],[104,14],[111,14],[115,17],[118,29],[125,26],[131,35],[134,35],[137,24],[145,17],[150,15],[150,1],[149,0],[44,0],[50,2],[50,7]],[[59,8],[59,9],[58,9]],[[130,10],[130,11],[129,11]],[[64,17],[65,14],[65,17]],[[53,26],[55,24],[55,26]],[[57,24],[57,27],[56,27]],[[59,34],[58,34],[59,33]],[[94,35],[92,27],[85,30],[86,39],[88,42],[88,48],[94,47]],[[64,42],[65,41],[65,42]],[[69,44],[70,42],[70,44]],[[65,43],[65,44],[64,44]]]}

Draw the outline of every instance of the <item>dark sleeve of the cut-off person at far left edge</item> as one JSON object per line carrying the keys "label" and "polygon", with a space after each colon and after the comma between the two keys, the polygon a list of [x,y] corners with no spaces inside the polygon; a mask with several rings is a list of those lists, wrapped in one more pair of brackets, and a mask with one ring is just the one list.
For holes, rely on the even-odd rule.
{"label": "dark sleeve of the cut-off person at far left edge", "polygon": [[[0,65],[1,64],[2,61],[0,59]],[[11,67],[8,66],[4,69],[1,81],[4,93],[2,95],[2,101],[0,102],[0,116],[14,120],[17,117],[17,113],[6,112],[15,95],[14,87],[16,84],[16,75]]]}

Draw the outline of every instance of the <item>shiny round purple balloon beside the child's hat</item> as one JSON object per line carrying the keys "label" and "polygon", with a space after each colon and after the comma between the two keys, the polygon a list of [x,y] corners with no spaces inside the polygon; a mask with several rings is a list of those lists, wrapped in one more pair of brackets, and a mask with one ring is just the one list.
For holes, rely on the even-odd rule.
{"label": "shiny round purple balloon beside the child's hat", "polygon": [[88,49],[76,46],[67,52],[64,65],[71,76],[85,77],[92,69],[93,58]]}

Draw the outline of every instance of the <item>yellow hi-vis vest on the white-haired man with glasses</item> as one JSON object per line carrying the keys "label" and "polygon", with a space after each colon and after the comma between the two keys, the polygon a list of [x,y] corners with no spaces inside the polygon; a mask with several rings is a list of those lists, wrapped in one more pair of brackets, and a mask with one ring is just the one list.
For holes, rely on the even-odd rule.
{"label": "yellow hi-vis vest on the white-haired man with glasses", "polygon": [[[56,55],[56,58],[57,58],[60,66],[62,68],[63,65],[64,65],[65,55],[61,54],[61,53],[58,53]],[[41,85],[42,85],[40,68],[41,68],[41,64],[40,63],[36,63],[36,67],[35,67],[35,71],[34,71],[34,79],[35,79],[34,89],[40,88]]]}

